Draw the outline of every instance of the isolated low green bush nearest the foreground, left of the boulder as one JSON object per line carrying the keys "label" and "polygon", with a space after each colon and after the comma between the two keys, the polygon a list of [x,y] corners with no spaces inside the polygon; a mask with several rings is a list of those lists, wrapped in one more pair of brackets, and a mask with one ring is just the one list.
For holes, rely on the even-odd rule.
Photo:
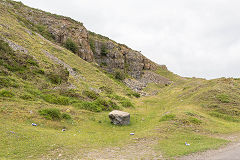
{"label": "isolated low green bush nearest the foreground, left of the boulder", "polygon": [[38,111],[41,116],[49,120],[71,119],[71,116],[66,113],[61,113],[57,108],[47,108]]}

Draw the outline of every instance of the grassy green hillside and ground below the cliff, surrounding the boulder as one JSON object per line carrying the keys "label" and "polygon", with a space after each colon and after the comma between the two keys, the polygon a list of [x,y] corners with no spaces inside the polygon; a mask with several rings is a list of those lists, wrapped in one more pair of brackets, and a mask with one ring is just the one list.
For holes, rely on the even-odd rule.
{"label": "grassy green hillside and ground below the cliff, surrounding the boulder", "polygon": [[[227,144],[221,137],[239,132],[239,79],[156,73],[173,83],[149,84],[144,90],[156,94],[135,98],[0,3],[0,159],[111,159],[120,150],[130,152],[120,158],[175,158]],[[111,125],[113,109],[129,112],[131,124]],[[144,153],[149,147],[154,154]]]}

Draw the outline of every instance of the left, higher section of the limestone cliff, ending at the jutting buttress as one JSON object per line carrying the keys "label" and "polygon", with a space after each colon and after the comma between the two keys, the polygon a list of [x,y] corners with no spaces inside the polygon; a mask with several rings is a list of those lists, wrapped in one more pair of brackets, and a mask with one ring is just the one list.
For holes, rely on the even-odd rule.
{"label": "left, higher section of the limestone cliff, ending at the jutting buttress", "polygon": [[30,29],[34,26],[40,28],[39,30],[42,30],[42,32],[47,31],[50,33],[48,36],[61,45],[64,45],[67,39],[71,39],[77,44],[77,55],[88,62],[94,61],[88,42],[88,31],[82,23],[68,17],[25,7],[24,5],[19,5],[18,9],[12,7],[18,16],[22,16],[30,24],[27,24]]}

